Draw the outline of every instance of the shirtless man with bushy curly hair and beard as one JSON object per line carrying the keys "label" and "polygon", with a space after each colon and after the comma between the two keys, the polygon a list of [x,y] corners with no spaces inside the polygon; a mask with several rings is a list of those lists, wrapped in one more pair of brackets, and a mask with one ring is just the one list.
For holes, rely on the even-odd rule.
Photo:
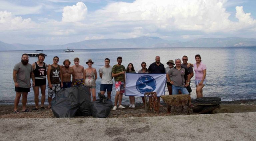
{"label": "shirtless man with bushy curly hair and beard", "polygon": [[[70,61],[68,59],[64,60],[63,65],[61,67],[62,71],[62,78],[63,78],[63,87],[61,88],[69,88],[74,85],[74,70],[72,67],[69,67]],[[71,82],[71,75],[72,75],[72,82]]]}

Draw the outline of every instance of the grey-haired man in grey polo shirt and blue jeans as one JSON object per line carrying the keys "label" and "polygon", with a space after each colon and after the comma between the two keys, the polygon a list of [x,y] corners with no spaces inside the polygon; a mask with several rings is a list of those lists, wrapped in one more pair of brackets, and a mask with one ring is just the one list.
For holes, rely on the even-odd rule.
{"label": "grey-haired man in grey polo shirt and blue jeans", "polygon": [[[188,86],[190,82],[190,73],[188,69],[181,67],[180,59],[175,59],[175,65],[176,66],[170,69],[166,74],[167,82],[172,84],[172,94],[178,94],[179,90],[182,94],[189,94],[186,86]],[[172,75],[172,80],[170,80],[169,75]]]}

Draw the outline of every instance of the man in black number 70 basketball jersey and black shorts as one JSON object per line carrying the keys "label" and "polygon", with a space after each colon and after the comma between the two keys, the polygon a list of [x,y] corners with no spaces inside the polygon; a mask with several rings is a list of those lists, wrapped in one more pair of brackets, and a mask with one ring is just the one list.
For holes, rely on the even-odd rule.
{"label": "man in black number 70 basketball jersey and black shorts", "polygon": [[34,62],[32,64],[32,68],[33,68],[33,73],[35,74],[35,86],[33,87],[34,89],[34,94],[35,94],[35,108],[32,110],[38,110],[39,109],[39,87],[41,88],[41,93],[42,93],[42,97],[41,97],[41,108],[40,109],[45,109],[44,108],[44,101],[45,101],[45,88],[46,88],[46,73],[47,73],[47,65],[46,63],[44,63],[44,58],[45,55],[40,53],[37,56],[38,61]]}

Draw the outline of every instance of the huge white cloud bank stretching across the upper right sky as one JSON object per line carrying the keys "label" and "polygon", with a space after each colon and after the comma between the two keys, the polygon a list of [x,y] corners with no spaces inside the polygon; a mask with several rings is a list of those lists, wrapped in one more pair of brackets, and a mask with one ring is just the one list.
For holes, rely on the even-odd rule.
{"label": "huge white cloud bank stretching across the upper right sky", "polygon": [[[133,3],[115,2],[89,15],[96,22],[144,22],[152,31],[201,31],[205,33],[229,32],[243,29],[246,25],[229,20],[224,8],[227,0],[136,0]],[[236,8],[239,22],[255,25],[242,7]],[[94,18],[93,18],[94,17]],[[240,21],[241,20],[241,21]],[[244,23],[243,22],[243,23]],[[135,25],[135,24],[134,24]],[[144,28],[146,29],[146,28]]]}

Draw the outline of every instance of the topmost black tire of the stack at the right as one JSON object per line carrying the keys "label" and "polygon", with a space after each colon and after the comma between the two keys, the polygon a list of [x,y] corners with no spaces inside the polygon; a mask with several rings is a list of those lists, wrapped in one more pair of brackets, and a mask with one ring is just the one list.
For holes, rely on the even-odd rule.
{"label": "topmost black tire of the stack at the right", "polygon": [[220,97],[200,97],[196,98],[198,105],[219,105],[221,103]]}

